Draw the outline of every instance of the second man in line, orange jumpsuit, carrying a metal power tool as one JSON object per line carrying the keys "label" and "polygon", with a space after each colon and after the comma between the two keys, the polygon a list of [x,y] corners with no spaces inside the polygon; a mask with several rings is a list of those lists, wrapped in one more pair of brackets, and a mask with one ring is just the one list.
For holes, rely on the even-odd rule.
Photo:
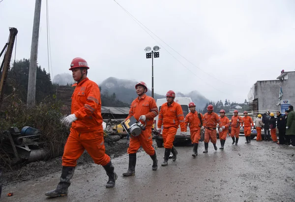
{"label": "second man in line, orange jumpsuit, carrying a metal power tool", "polygon": [[127,153],[129,154],[129,165],[127,172],[123,173],[124,176],[130,176],[135,174],[136,165],[136,153],[140,146],[147,152],[153,161],[152,170],[157,170],[158,160],[156,152],[152,147],[152,136],[151,128],[153,124],[153,119],[158,115],[158,107],[155,100],[152,97],[146,95],[148,91],[147,84],[143,81],[135,85],[136,93],[138,98],[136,98],[131,103],[129,110],[129,115],[125,119],[129,119],[134,116],[136,120],[140,120],[142,123],[147,123],[146,130],[136,137],[130,136],[129,147]]}

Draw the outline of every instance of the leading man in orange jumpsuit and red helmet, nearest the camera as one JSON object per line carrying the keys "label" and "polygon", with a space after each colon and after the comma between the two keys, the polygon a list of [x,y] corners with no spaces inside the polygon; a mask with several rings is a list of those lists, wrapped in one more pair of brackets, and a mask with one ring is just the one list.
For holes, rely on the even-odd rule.
{"label": "leading man in orange jumpsuit and red helmet, nearest the camera", "polygon": [[67,195],[77,160],[85,149],[94,163],[106,170],[109,176],[107,188],[114,187],[118,177],[110,157],[105,153],[100,92],[98,85],[88,79],[88,69],[87,62],[82,58],[74,58],[69,69],[77,83],[73,85],[76,88],[72,95],[72,114],[65,117],[62,123],[66,126],[72,124],[72,127],[64,146],[60,182],[55,190],[45,193],[48,197]]}

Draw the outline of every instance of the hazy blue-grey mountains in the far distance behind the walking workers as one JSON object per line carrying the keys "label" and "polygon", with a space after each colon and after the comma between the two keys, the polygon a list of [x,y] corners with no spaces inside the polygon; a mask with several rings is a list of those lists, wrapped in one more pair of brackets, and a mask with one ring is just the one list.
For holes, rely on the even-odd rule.
{"label": "hazy blue-grey mountains in the far distance behind the walking workers", "polygon": [[[116,98],[120,101],[131,103],[136,97],[135,85],[137,81],[127,80],[127,79],[118,79],[114,77],[109,77],[104,80],[99,86],[101,87],[101,94],[112,95],[116,94]],[[151,90],[148,89],[148,96],[151,96]],[[178,92],[177,97],[186,97],[191,98],[196,104],[196,109],[203,109],[209,100],[201,95],[198,91],[192,91],[188,94],[182,94]],[[155,100],[166,98],[165,95],[154,94]]]}

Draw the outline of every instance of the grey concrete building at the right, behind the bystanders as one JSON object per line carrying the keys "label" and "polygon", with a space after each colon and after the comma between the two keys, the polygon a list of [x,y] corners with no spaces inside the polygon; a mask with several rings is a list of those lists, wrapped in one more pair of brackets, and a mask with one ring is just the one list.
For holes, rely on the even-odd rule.
{"label": "grey concrete building at the right, behind the bystanders", "polygon": [[[280,89],[283,96],[279,99]],[[249,105],[253,111],[280,110],[295,103],[295,71],[281,71],[277,80],[257,81],[248,93]]]}

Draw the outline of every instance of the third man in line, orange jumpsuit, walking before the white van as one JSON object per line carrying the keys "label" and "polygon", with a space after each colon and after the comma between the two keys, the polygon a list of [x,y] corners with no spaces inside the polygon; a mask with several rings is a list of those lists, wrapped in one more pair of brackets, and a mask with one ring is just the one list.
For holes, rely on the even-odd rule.
{"label": "third man in line, orange jumpsuit, walking before the white van", "polygon": [[175,139],[175,135],[177,133],[179,124],[181,129],[180,135],[186,135],[183,111],[180,104],[175,102],[174,99],[175,92],[171,90],[168,91],[166,94],[167,102],[162,104],[159,113],[157,131],[161,130],[163,124],[162,136],[165,148],[164,162],[161,164],[161,166],[168,165],[170,152],[172,152],[173,154],[172,161],[176,161],[178,152],[176,148],[173,146],[173,141]]}

